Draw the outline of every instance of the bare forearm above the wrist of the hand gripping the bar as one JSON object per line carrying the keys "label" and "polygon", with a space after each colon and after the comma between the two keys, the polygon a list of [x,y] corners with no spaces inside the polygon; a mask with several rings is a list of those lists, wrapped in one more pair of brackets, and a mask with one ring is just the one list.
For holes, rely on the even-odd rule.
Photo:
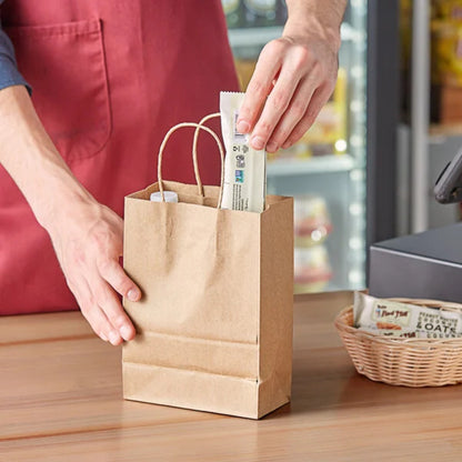
{"label": "bare forearm above the wrist of the hand gripping the bar", "polygon": [[289,14],[284,34],[309,37],[314,33],[338,50],[346,2],[348,0],[287,0]]}

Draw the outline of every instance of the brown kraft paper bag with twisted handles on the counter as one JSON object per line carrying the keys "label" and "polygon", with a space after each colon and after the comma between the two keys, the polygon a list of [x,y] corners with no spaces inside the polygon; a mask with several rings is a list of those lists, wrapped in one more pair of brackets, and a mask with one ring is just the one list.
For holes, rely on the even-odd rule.
{"label": "brown kraft paper bag with twisted handles on the counter", "polygon": [[[123,396],[259,419],[291,395],[293,200],[221,210],[197,171],[199,187],[162,181],[164,143],[159,182],[125,198],[124,269],[143,297],[124,300]],[[150,202],[163,190],[179,203]]]}

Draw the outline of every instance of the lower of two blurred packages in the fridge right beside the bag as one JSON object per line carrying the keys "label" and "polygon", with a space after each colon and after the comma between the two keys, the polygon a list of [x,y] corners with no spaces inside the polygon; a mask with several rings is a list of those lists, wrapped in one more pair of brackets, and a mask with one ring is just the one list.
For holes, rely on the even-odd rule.
{"label": "lower of two blurred packages in the fridge right beside the bag", "polygon": [[321,292],[332,279],[324,245],[294,249],[294,293]]}

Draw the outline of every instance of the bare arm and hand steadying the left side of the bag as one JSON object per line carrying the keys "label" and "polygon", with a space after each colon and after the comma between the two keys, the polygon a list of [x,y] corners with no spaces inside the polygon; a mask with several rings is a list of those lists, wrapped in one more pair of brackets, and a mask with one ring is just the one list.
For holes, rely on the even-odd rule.
{"label": "bare arm and hand steadying the left side of the bag", "polygon": [[0,90],[0,163],[50,234],[68,285],[94,332],[112,344],[131,340],[134,328],[116,291],[133,301],[141,294],[119,264],[123,221],[72,174],[23,86]]}

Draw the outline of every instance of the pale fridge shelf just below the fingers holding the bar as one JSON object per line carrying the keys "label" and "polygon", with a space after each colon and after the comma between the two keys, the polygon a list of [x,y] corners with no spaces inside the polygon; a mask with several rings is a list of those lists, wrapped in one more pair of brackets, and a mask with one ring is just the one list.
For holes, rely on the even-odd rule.
{"label": "pale fridge shelf just below the fingers holding the bar", "polygon": [[281,159],[268,162],[269,177],[289,177],[312,173],[332,173],[354,169],[354,159],[349,154],[323,155],[307,160]]}

